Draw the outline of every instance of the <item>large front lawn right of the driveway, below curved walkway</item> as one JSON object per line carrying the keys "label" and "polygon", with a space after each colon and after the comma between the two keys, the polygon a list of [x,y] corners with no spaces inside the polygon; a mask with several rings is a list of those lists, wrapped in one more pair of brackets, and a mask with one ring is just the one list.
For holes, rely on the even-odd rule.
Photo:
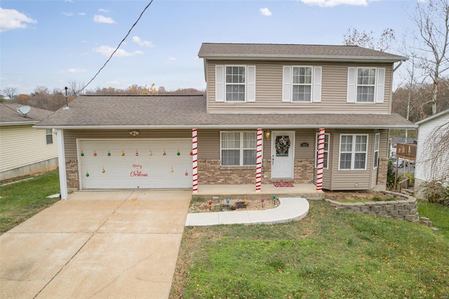
{"label": "large front lawn right of the driveway, below curved walkway", "polygon": [[280,225],[186,227],[170,298],[444,298],[449,240],[311,201]]}

